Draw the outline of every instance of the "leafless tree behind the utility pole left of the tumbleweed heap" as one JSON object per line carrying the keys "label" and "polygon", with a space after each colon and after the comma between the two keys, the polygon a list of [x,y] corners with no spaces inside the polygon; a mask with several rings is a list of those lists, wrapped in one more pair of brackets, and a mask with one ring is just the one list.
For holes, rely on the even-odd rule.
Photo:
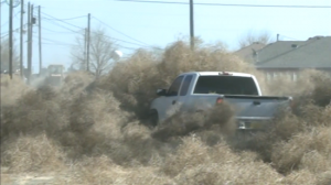
{"label": "leafless tree behind the utility pole left of the tumbleweed heap", "polygon": [[[86,69],[87,61],[84,34],[77,37],[76,42],[77,45],[75,45],[72,51],[73,66],[78,66],[79,69]],[[98,77],[108,72],[116,62],[116,44],[106,35],[104,30],[96,30],[90,32],[89,48],[89,70]]]}

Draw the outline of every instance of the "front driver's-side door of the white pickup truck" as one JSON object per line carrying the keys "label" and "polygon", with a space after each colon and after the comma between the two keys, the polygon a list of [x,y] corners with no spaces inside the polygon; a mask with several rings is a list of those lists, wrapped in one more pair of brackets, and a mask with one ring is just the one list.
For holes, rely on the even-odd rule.
{"label": "front driver's-side door of the white pickup truck", "polygon": [[172,111],[175,109],[175,106],[178,105],[178,98],[179,98],[179,91],[180,87],[182,85],[182,81],[184,79],[184,76],[179,76],[178,78],[174,79],[170,88],[168,89],[167,96],[164,97],[163,100],[163,110],[161,110],[162,113],[161,117],[168,118],[169,115],[172,113]]}

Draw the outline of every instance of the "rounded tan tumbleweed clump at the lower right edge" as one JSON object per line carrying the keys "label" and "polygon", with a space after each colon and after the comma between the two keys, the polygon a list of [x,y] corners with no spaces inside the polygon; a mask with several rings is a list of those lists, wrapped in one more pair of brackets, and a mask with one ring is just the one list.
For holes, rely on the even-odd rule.
{"label": "rounded tan tumbleweed clump at the lower right edge", "polygon": [[313,128],[277,143],[271,154],[275,167],[281,173],[293,170],[308,170],[313,174],[327,172],[331,167],[330,131],[330,128]]}

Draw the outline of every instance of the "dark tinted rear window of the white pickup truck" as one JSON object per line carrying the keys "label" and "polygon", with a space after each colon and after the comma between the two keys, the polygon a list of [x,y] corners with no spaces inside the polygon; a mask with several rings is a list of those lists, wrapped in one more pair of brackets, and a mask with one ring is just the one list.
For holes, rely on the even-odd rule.
{"label": "dark tinted rear window of the white pickup truck", "polygon": [[252,77],[200,76],[194,94],[258,95]]}

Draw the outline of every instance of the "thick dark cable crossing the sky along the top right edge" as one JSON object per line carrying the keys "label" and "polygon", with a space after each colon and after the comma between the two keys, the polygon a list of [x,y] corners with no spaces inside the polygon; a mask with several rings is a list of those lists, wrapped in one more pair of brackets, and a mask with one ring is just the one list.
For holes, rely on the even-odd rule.
{"label": "thick dark cable crossing the sky along the top right edge", "polygon": [[[147,2],[147,3],[167,3],[167,4],[190,4],[188,2],[171,2],[171,1],[145,1],[145,0],[115,0],[127,2]],[[255,7],[255,8],[305,8],[305,9],[330,9],[331,6],[267,6],[267,4],[227,4],[227,3],[203,3],[195,2],[195,6],[213,6],[213,7]]]}

